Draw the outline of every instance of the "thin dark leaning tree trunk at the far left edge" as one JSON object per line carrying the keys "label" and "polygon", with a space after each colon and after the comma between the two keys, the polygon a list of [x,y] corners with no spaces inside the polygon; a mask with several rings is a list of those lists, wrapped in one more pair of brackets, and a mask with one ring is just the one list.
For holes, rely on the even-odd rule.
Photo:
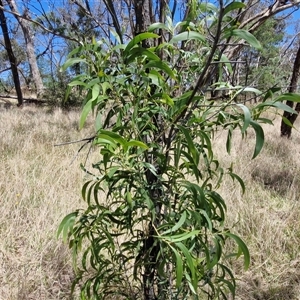
{"label": "thin dark leaning tree trunk at the far left edge", "polygon": [[[0,5],[3,6],[2,0],[0,0]],[[14,84],[15,84],[17,97],[18,97],[18,106],[21,106],[23,104],[23,96],[22,96],[22,91],[21,91],[21,84],[20,84],[20,78],[19,78],[19,73],[18,73],[17,60],[13,53],[13,49],[12,49],[9,34],[8,34],[6,18],[5,18],[5,15],[4,15],[4,12],[2,9],[0,9],[0,22],[1,22],[1,28],[2,28],[3,37],[4,37],[5,48],[6,48],[9,62],[11,65],[11,71],[12,71],[12,75],[13,75],[13,80],[14,80]]]}

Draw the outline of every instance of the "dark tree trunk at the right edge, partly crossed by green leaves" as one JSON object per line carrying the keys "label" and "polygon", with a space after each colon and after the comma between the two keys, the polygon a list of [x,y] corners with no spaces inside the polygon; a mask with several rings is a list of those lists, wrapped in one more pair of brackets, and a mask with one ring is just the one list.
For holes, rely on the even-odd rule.
{"label": "dark tree trunk at the right edge, partly crossed by green leaves", "polygon": [[[297,91],[299,75],[300,75],[300,46],[298,48],[297,55],[294,62],[293,74],[292,74],[292,79],[289,87],[290,93],[295,93]],[[294,107],[294,102],[292,101],[287,101],[286,104],[292,108]],[[300,112],[300,103],[297,103],[295,110],[297,113]],[[289,120],[289,122],[292,125],[295,123],[297,116],[298,115],[286,111],[283,113],[283,117]],[[280,131],[281,131],[281,136],[290,138],[292,134],[292,127],[287,125],[282,119]]]}

